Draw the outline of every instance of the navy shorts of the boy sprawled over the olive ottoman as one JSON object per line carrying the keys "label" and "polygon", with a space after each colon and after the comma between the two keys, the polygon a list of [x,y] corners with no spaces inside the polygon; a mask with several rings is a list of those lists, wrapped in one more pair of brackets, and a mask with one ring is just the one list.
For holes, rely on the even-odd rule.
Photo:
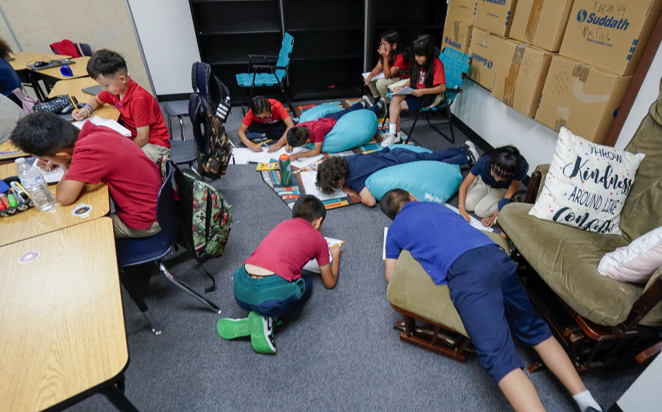
{"label": "navy shorts of the boy sprawled over the olive ottoman", "polygon": [[531,304],[516,268],[503,248],[485,245],[465,252],[448,269],[450,298],[483,368],[497,384],[514,369],[524,367],[511,331],[530,346],[552,336]]}

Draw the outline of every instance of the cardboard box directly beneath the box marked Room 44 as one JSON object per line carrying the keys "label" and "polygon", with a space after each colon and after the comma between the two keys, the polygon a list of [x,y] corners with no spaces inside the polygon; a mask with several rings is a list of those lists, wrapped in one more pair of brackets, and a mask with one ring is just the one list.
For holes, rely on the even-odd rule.
{"label": "cardboard box directly beneath the box marked Room 44", "polygon": [[552,57],[536,121],[604,143],[632,76],[619,76],[562,56]]}

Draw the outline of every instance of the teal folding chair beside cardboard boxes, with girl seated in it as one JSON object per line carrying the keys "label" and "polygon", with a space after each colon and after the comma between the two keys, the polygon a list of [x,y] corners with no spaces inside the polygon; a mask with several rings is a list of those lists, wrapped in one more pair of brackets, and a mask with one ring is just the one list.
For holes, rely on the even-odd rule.
{"label": "teal folding chair beside cardboard boxes, with girl seated in it", "polygon": [[[425,113],[425,119],[428,121],[428,125],[430,125],[435,132],[441,134],[441,136],[450,141],[450,143],[455,143],[455,132],[453,131],[453,122],[450,116],[450,106],[453,104],[453,101],[455,101],[455,97],[462,92],[461,85],[469,71],[471,57],[468,56],[468,54],[455,50],[454,48],[447,47],[442,50],[441,54],[439,54],[439,60],[443,63],[443,72],[446,77],[446,90],[441,94],[441,101],[439,101],[437,105],[421,107],[421,109],[416,112],[414,124],[409,131],[405,144],[409,143],[409,139],[412,138],[414,127],[419,120],[419,116],[421,116],[421,112]],[[439,127],[430,122],[430,112],[445,116],[446,120],[448,120],[450,136],[442,132]]]}

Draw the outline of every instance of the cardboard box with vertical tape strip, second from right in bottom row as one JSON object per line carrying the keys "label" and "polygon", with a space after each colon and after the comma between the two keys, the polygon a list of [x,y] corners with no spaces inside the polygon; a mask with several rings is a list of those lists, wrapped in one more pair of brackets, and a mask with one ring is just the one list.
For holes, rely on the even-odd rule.
{"label": "cardboard box with vertical tape strip, second from right in bottom row", "polygon": [[552,52],[508,39],[499,54],[492,96],[524,116],[535,116]]}

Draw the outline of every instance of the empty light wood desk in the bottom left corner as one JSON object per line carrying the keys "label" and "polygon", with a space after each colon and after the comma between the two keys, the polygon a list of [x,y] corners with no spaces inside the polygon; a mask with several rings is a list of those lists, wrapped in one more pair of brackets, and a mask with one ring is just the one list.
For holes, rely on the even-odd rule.
{"label": "empty light wood desk in the bottom left corner", "polygon": [[[37,258],[19,263],[30,251]],[[0,247],[0,409],[70,406],[123,387],[126,329],[112,221],[94,219]]]}

